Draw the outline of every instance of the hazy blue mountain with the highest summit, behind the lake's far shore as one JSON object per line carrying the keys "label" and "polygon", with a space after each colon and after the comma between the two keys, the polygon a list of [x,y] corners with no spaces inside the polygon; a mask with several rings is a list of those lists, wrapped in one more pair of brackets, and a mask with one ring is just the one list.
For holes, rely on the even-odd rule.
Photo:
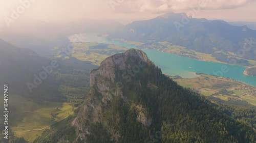
{"label": "hazy blue mountain with the highest summit, behind the lake's far shore", "polygon": [[[125,25],[120,30],[110,34],[111,38],[124,38],[130,41],[145,42],[148,40],[160,41],[169,36],[179,33],[175,26],[175,22],[181,22],[182,17],[186,17],[185,13],[167,13],[162,16],[143,21],[135,21]],[[186,17],[187,18],[187,17]],[[206,19],[190,19],[185,27],[207,21]]]}

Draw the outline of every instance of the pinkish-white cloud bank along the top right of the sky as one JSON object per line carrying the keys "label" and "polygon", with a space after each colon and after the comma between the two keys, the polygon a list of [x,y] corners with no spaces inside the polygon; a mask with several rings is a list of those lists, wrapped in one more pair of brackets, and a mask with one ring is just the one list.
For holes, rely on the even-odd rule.
{"label": "pinkish-white cloud bank along the top right of the sky", "polygon": [[162,13],[187,10],[200,4],[204,4],[201,9],[233,9],[253,1],[255,0],[123,0],[116,6],[115,12]]}

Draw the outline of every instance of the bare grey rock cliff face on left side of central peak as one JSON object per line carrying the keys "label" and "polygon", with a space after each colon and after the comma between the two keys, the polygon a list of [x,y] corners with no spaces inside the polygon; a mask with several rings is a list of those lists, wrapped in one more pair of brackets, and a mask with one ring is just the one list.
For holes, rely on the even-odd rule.
{"label": "bare grey rock cliff face on left side of central peak", "polygon": [[[115,54],[106,58],[98,69],[91,71],[91,89],[82,104],[78,117],[72,122],[76,127],[77,136],[81,140],[86,140],[90,135],[89,126],[97,122],[103,122],[103,126],[110,132],[111,138],[118,140],[119,131],[109,125],[108,114],[109,105],[115,97],[122,98],[127,104],[131,105],[130,99],[123,94],[123,82],[135,82],[135,85],[141,86],[139,80],[131,79],[150,61],[147,55],[137,49],[129,49],[125,53]],[[148,117],[147,111],[142,105],[131,105],[138,111],[137,121],[144,126],[150,126],[152,119]],[[108,113],[109,112],[109,113]],[[119,115],[111,117],[120,122]]]}

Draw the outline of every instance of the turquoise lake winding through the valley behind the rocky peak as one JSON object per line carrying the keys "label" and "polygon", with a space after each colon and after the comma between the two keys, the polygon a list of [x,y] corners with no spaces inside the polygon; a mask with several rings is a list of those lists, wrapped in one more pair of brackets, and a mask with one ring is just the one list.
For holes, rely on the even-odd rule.
{"label": "turquoise lake winding through the valley behind the rocky peak", "polygon": [[[105,44],[115,44],[127,48],[136,48],[135,45],[123,43],[121,41],[112,41],[106,38],[98,37],[97,34],[84,34],[86,42],[98,42]],[[221,75],[245,82],[250,85],[256,86],[256,77],[244,75],[243,72],[246,67],[221,64],[215,62],[198,61],[186,58],[184,56],[175,55],[172,53],[165,53],[159,50],[142,49],[162,72],[166,75],[174,76],[180,75],[183,78],[191,78],[197,76],[195,73],[205,73],[211,75]],[[224,68],[224,69],[223,69]]]}

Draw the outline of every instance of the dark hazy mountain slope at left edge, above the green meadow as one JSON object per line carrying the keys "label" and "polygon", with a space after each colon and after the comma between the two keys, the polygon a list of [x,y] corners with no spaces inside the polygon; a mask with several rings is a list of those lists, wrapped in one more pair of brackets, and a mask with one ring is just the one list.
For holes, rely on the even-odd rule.
{"label": "dark hazy mountain slope at left edge, above the green meadow", "polygon": [[28,82],[34,84],[34,75],[39,76],[39,73],[45,71],[42,66],[49,66],[50,60],[40,57],[30,49],[18,48],[1,39],[0,50],[0,84],[8,83],[12,93],[26,97],[60,99],[56,84],[50,74],[39,85],[36,85],[36,88],[33,88],[32,93],[27,85]]}

